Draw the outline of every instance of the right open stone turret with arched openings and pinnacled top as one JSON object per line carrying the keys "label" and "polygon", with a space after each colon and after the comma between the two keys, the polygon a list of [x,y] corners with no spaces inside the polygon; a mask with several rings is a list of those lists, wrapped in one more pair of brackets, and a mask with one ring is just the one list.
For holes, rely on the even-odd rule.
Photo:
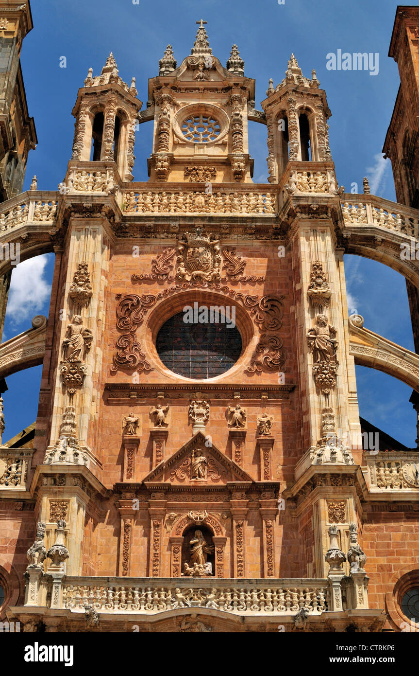
{"label": "right open stone turret with arched openings and pinnacled top", "polygon": [[327,120],[331,112],[316,71],[312,70],[311,80],[305,78],[291,54],[285,79],[275,89],[269,80],[267,96],[262,108],[268,128],[269,183],[279,183],[288,160],[330,161]]}

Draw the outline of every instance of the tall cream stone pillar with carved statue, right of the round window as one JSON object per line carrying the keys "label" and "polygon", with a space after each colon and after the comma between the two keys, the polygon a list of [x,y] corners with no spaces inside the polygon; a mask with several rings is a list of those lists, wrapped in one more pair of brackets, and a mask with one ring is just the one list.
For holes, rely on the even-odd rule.
{"label": "tall cream stone pillar with carved statue, right of the round window", "polygon": [[[331,206],[328,213],[330,209]],[[344,321],[347,306],[341,256],[335,250],[333,222],[329,216],[321,221],[298,216],[291,226],[290,240],[297,294],[294,313],[298,377],[300,391],[306,402],[302,437],[306,452],[310,450],[308,464],[322,464],[325,461],[351,464],[353,458],[350,449],[347,451],[343,446],[348,445],[349,436],[360,431],[359,412],[357,422],[354,413],[355,408],[358,410],[356,399],[355,406],[349,406],[349,402],[353,402],[356,397],[354,359],[345,357],[349,343],[347,322]],[[324,278],[323,283],[316,286],[316,279],[321,277]],[[329,360],[318,360],[319,354],[314,347],[310,348],[307,337],[309,331],[312,334],[323,331],[323,327],[317,323],[321,320],[320,315],[326,316],[325,331],[330,332],[329,338],[335,337],[337,341],[336,356],[330,355]],[[343,437],[342,445],[335,443],[339,447],[336,451],[318,446],[322,438],[333,436],[333,433],[337,435],[337,440]],[[302,471],[303,468],[298,469],[296,479]]]}

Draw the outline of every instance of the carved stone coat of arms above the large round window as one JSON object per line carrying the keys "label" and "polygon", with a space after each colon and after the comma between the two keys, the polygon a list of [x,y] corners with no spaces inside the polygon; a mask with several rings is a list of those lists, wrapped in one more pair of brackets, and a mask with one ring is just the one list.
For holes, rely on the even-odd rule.
{"label": "carved stone coat of arms above the large round window", "polygon": [[219,282],[221,279],[221,253],[219,239],[212,239],[202,228],[185,233],[179,239],[177,256],[177,278],[190,281]]}

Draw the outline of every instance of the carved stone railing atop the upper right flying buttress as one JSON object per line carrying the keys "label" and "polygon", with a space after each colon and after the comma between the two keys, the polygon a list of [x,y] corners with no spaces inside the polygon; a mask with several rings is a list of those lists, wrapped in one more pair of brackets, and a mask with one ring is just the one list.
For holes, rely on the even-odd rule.
{"label": "carved stone railing atop the upper right flying buttress", "polygon": [[419,239],[419,211],[376,195],[341,197],[346,225],[378,226],[395,233]]}

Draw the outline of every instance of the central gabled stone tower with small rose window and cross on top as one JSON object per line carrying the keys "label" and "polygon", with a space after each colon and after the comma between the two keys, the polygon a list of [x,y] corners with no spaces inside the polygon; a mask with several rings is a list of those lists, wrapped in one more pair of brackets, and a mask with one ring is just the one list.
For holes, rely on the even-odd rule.
{"label": "central gabled stone tower with small rose window and cross on top", "polygon": [[196,23],[190,56],[176,68],[168,45],[159,75],[149,80],[149,110],[140,122],[154,116],[150,180],[252,183],[247,108],[254,80],[244,76],[237,45],[223,68],[209,46],[206,22]]}

